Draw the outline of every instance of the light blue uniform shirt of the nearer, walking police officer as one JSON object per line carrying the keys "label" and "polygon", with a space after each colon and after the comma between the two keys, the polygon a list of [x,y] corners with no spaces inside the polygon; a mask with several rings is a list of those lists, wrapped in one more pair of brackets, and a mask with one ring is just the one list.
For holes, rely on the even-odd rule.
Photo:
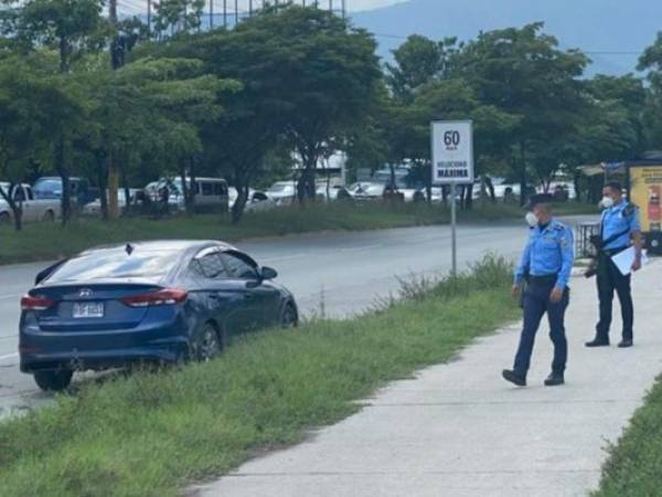
{"label": "light blue uniform shirt of the nearer, walking police officer", "polygon": [[520,264],[515,269],[515,284],[525,274],[531,276],[556,275],[556,287],[568,286],[575,261],[573,230],[552,220],[546,228],[532,228]]}

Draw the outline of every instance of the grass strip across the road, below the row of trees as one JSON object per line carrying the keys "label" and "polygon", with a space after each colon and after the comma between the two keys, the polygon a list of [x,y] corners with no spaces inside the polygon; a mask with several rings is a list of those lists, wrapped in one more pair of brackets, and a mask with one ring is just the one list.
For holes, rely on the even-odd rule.
{"label": "grass strip across the road, below the row of trees", "polygon": [[[559,213],[567,214],[584,213],[591,208],[584,204],[563,204],[558,209]],[[490,204],[483,208],[477,205],[471,212],[462,212],[460,219],[494,221],[521,215],[522,211],[517,207]],[[291,233],[378,230],[448,222],[449,213],[441,207],[382,203],[282,208],[247,214],[236,226],[229,223],[227,215],[221,214],[163,220],[127,218],[116,222],[81,219],[64,229],[58,224],[28,224],[22,232],[17,233],[10,226],[0,228],[0,265],[56,260],[92,246],[128,241],[214,239],[236,242]]]}

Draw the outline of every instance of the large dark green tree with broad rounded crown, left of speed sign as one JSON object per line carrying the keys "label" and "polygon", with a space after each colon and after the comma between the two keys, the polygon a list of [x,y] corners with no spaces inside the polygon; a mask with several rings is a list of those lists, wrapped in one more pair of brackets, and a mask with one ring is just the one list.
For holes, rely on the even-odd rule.
{"label": "large dark green tree with broad rounded crown, left of speed sign", "polygon": [[259,89],[300,158],[299,197],[314,197],[318,160],[360,125],[381,80],[375,42],[321,9],[266,9],[237,27],[223,47],[225,71]]}

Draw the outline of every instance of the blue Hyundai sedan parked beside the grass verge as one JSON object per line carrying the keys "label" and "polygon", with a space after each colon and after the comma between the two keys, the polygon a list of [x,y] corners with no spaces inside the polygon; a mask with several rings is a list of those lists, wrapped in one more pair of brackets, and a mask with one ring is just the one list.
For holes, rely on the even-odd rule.
{"label": "blue Hyundai sedan parked beside the grass verge", "polygon": [[298,324],[276,277],[220,242],[83,252],[40,273],[21,299],[21,370],[43,390],[64,390],[74,371],[209,360],[234,335]]}

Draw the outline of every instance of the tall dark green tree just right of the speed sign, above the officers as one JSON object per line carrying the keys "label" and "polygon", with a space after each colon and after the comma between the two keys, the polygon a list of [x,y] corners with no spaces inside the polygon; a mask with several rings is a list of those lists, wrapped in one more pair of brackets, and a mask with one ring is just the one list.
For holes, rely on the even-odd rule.
{"label": "tall dark green tree just right of the speed sign, above the officers", "polygon": [[541,155],[534,147],[560,142],[576,133],[585,104],[578,78],[588,59],[577,50],[558,49],[557,40],[542,30],[543,23],[534,23],[481,33],[459,57],[460,71],[478,98],[519,119],[509,141],[522,192],[531,159]]}

